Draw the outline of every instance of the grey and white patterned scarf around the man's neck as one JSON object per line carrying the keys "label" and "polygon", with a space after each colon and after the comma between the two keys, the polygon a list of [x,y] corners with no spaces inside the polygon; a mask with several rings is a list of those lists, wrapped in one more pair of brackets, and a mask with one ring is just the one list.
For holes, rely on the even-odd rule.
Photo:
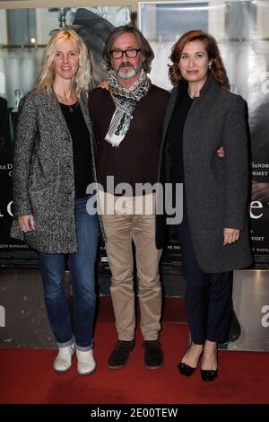
{"label": "grey and white patterned scarf around the man's neck", "polygon": [[149,91],[151,80],[142,70],[139,78],[130,88],[123,88],[117,82],[113,69],[108,71],[109,92],[114,101],[116,110],[110,121],[105,139],[113,146],[118,146],[126,136],[133,119],[136,103]]}

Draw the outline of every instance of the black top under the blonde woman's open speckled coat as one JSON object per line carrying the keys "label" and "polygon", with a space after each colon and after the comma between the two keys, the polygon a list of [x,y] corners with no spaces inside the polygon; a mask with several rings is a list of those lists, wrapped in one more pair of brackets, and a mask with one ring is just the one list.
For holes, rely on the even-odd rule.
{"label": "black top under the blonde woman's open speckled coat", "polygon": [[91,174],[90,133],[78,104],[71,107],[60,103],[73,142],[75,198],[86,196],[87,186],[93,181]]}

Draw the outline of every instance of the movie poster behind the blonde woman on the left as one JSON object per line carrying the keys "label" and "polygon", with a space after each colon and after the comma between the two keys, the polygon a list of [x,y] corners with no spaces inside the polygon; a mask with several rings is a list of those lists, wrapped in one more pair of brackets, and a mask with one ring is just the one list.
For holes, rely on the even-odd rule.
{"label": "movie poster behind the blonde woman on the left", "polygon": [[[7,21],[11,22],[9,35]],[[11,239],[9,231],[13,219],[12,172],[17,110],[22,96],[35,84],[44,47],[59,27],[66,24],[73,28],[82,37],[90,51],[92,77],[94,83],[98,85],[100,80],[105,78],[101,55],[108,34],[116,26],[130,21],[129,6],[1,11],[0,267],[35,268],[38,266],[37,253],[25,243]],[[33,45],[30,45],[31,42]],[[10,48],[9,44],[13,47]],[[109,274],[108,258],[103,244],[100,244],[98,271],[100,274]]]}

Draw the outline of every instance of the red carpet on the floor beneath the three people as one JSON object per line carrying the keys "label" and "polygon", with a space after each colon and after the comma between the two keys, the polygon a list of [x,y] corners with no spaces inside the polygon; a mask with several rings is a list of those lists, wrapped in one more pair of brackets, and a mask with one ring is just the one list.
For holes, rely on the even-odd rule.
{"label": "red carpet on the floor beneath the three people", "polygon": [[112,322],[98,323],[98,367],[85,377],[76,373],[75,359],[71,371],[54,373],[56,350],[0,349],[0,403],[269,403],[268,353],[221,351],[219,377],[207,383],[198,371],[190,378],[178,373],[178,361],[187,348],[186,325],[163,324],[165,365],[160,370],[143,366],[139,332],[128,365],[109,370],[107,359],[116,339]]}

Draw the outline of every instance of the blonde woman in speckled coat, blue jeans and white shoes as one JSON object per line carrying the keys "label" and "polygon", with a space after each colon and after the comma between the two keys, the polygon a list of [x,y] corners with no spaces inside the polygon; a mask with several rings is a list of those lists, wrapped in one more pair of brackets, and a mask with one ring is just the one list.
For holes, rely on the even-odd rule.
{"label": "blonde woman in speckled coat, blue jeans and white shoes", "polygon": [[[94,264],[98,216],[86,211],[86,188],[96,181],[95,148],[87,105],[88,51],[70,30],[58,31],[44,51],[36,87],[19,107],[14,151],[12,236],[38,251],[48,319],[58,355],[56,372],[72,365],[95,369]],[[65,254],[72,278],[74,330],[65,297]]]}

